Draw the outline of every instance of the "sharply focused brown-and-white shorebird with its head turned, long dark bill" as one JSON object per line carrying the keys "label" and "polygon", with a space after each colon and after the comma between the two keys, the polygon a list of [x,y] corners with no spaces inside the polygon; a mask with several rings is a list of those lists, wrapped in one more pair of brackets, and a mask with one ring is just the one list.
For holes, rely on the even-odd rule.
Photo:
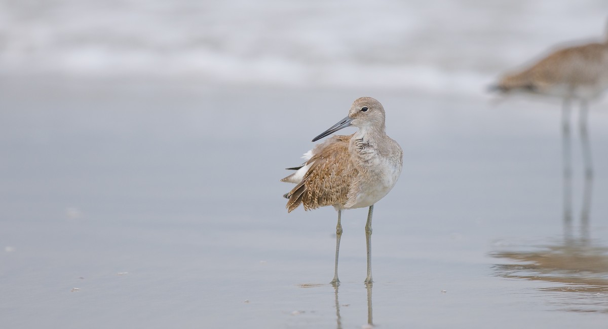
{"label": "sharply focused brown-and-white shorebird with its head turned, long dark bill", "polygon": [[334,286],[338,280],[338,254],[343,209],[370,207],[365,224],[367,238],[367,277],[371,284],[371,215],[374,204],[384,198],[395,186],[403,162],[403,151],[385,132],[385,113],[382,104],[371,97],[361,97],[353,102],[348,116],[324,131],[313,142],[347,126],[359,130],[348,136],[334,135],[306,152],[306,160],[283,182],[297,184],[285,195],[289,199],[287,210],[291,212],[303,204],[305,210],[334,206],[338,212],[336,226],[336,263]]}

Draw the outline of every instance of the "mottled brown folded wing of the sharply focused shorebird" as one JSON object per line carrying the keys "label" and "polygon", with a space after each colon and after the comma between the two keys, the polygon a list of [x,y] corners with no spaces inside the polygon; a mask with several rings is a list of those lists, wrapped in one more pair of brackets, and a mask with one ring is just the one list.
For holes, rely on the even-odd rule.
{"label": "mottled brown folded wing of the sharply focused shorebird", "polygon": [[351,179],[357,171],[348,153],[351,136],[334,136],[334,141],[325,145],[307,162],[311,167],[302,181],[286,196],[288,212],[300,204],[305,210],[316,209],[347,201]]}

